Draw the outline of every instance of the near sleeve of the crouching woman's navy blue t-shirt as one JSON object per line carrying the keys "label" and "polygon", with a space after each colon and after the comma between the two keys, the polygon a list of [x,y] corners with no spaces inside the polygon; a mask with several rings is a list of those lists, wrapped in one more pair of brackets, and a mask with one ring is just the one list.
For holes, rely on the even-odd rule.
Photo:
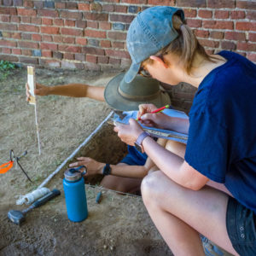
{"label": "near sleeve of the crouching woman's navy blue t-shirt", "polygon": [[229,142],[226,128],[209,113],[189,116],[189,139],[185,160],[201,174],[224,183],[228,170]]}

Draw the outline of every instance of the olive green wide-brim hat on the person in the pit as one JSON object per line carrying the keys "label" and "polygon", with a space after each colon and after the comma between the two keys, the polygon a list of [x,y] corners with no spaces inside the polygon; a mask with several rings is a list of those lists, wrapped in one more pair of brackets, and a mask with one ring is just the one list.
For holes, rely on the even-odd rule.
{"label": "olive green wide-brim hat on the person in the pit", "polygon": [[105,101],[111,108],[131,111],[138,110],[140,104],[152,103],[160,108],[171,103],[168,94],[160,90],[159,81],[137,75],[127,84],[124,77],[125,73],[115,76],[104,91]]}

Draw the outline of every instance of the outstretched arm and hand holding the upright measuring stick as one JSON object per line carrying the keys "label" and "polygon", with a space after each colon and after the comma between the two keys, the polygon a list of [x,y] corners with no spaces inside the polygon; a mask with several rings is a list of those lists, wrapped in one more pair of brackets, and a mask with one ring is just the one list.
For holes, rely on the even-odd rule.
{"label": "outstretched arm and hand holding the upright measuring stick", "polygon": [[[63,84],[55,86],[46,86],[44,84],[36,84],[34,93],[36,96],[71,96],[71,97],[88,97],[96,101],[104,102],[104,87],[92,86],[88,84]],[[30,93],[28,84],[26,84],[26,101],[29,101]]]}

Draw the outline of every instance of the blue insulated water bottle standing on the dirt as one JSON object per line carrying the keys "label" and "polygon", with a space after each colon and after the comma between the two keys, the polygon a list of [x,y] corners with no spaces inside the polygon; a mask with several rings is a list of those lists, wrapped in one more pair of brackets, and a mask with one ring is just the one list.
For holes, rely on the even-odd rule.
{"label": "blue insulated water bottle standing on the dirt", "polygon": [[[85,168],[83,173],[79,172]],[[88,216],[87,201],[84,189],[85,166],[67,169],[64,172],[63,188],[66,199],[67,217],[73,222],[83,221]]]}

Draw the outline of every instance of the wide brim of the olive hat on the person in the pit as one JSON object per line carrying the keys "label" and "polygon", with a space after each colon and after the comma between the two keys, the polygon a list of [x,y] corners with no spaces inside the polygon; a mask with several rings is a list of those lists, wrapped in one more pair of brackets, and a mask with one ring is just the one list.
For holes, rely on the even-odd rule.
{"label": "wide brim of the olive hat on the person in the pit", "polygon": [[111,79],[105,90],[104,90],[104,98],[105,101],[108,103],[108,105],[111,108],[121,110],[121,111],[131,111],[131,110],[138,110],[138,106],[140,104],[145,104],[145,103],[152,103],[154,104],[157,108],[163,107],[167,104],[170,104],[170,97],[168,96],[167,93],[160,92],[160,95],[156,97],[154,100],[151,100],[149,102],[143,101],[131,101],[125,99],[123,96],[119,94],[119,84],[121,83],[122,79],[124,78],[125,73],[120,73],[119,75],[115,76],[113,79]]}

